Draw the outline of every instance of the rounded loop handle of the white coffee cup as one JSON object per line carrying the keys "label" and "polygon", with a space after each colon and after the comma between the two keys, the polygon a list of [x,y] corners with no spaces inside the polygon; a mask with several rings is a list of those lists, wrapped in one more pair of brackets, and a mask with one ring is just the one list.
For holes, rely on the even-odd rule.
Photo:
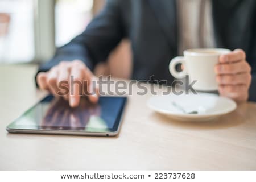
{"label": "rounded loop handle of the white coffee cup", "polygon": [[172,59],[170,61],[170,64],[169,64],[169,71],[170,71],[171,75],[174,76],[177,79],[184,78],[187,75],[186,68],[184,67],[183,71],[181,71],[181,72],[178,72],[176,70],[176,65],[177,64],[183,64],[184,65],[184,63],[185,63],[185,59],[182,56],[175,57],[174,59]]}

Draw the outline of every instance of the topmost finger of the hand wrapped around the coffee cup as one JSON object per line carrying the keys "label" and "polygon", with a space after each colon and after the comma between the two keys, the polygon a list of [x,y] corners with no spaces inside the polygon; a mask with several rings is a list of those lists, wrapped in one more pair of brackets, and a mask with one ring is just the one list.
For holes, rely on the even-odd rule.
{"label": "topmost finger of the hand wrapped around the coffee cup", "polygon": [[246,59],[245,51],[236,49],[230,53],[220,56],[220,63],[234,63]]}

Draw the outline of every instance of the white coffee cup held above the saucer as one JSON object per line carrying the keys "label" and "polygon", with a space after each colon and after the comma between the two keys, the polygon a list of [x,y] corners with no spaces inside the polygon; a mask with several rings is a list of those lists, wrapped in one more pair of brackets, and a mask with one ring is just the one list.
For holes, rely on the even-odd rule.
{"label": "white coffee cup held above the saucer", "polygon": [[[188,49],[184,51],[184,57],[179,56],[171,60],[169,70],[175,78],[189,76],[189,83],[193,84],[193,89],[201,91],[213,91],[218,89],[214,65],[218,63],[220,55],[229,53],[229,49]],[[177,71],[177,64],[183,64],[183,71]]]}

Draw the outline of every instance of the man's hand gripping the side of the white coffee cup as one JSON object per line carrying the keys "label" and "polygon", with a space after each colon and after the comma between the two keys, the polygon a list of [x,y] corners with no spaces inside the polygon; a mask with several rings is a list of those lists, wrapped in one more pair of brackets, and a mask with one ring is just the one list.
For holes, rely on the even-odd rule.
{"label": "man's hand gripping the side of the white coffee cup", "polygon": [[246,61],[246,54],[236,49],[226,55],[221,55],[219,63],[214,68],[221,96],[232,98],[237,102],[246,101],[249,97],[251,84],[251,67]]}

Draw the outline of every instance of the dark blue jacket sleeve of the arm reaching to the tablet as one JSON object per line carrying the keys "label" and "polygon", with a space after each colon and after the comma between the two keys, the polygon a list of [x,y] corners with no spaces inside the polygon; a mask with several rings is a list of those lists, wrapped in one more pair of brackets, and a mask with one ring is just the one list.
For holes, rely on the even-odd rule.
{"label": "dark blue jacket sleeve of the arm reaching to the tablet", "polygon": [[[104,9],[89,23],[82,34],[68,44],[57,48],[55,56],[47,63],[40,65],[39,72],[45,72],[60,61],[79,59],[93,69],[100,61],[105,61],[110,51],[123,38],[119,0],[109,0]],[[37,75],[37,74],[36,74]]]}

